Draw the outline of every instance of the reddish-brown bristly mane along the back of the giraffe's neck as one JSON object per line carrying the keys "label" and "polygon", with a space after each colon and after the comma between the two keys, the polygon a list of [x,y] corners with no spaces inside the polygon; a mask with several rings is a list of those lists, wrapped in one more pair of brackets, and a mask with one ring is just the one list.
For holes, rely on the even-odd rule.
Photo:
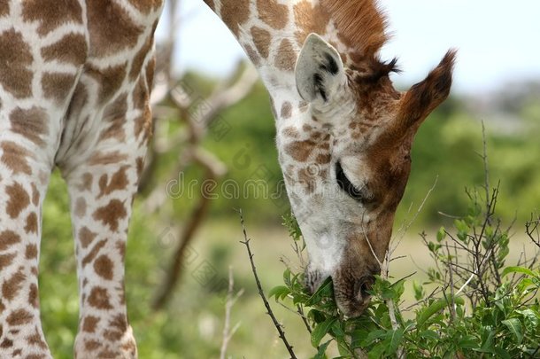
{"label": "reddish-brown bristly mane along the back of the giraffe's neck", "polygon": [[377,56],[388,35],[387,19],[376,0],[320,0],[320,4],[331,14],[339,40],[355,49],[356,57]]}

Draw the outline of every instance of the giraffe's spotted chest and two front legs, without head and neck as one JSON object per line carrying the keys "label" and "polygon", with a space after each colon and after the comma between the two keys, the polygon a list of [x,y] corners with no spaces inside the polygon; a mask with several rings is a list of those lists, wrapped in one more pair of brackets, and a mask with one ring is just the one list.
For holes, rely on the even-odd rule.
{"label": "giraffe's spotted chest and two front legs, without head and neck", "polygon": [[160,1],[0,2],[0,357],[50,357],[37,295],[52,168],[71,199],[79,358],[135,357],[124,303],[131,203],[150,137]]}

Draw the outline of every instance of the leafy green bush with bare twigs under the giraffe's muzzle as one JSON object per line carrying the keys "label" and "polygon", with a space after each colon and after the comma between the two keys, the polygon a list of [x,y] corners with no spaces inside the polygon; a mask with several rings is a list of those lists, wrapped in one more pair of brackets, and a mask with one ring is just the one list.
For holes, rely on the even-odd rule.
{"label": "leafy green bush with bare twigs under the giraffe's muzzle", "polygon": [[[434,267],[426,283],[413,284],[413,306],[404,308],[402,301],[407,278],[391,282],[384,265],[372,303],[358,318],[339,312],[330,278],[310,295],[303,271],[285,269],[284,285],[270,296],[295,307],[316,348],[313,358],[326,358],[330,346],[346,358],[540,357],[538,256],[506,265],[511,226],[495,218],[498,188],[467,195],[467,215],[451,230],[441,228],[433,240],[422,236]],[[538,221],[527,223],[527,233],[540,247]],[[285,225],[301,257],[304,245],[294,218]],[[435,289],[427,295],[429,286]]]}

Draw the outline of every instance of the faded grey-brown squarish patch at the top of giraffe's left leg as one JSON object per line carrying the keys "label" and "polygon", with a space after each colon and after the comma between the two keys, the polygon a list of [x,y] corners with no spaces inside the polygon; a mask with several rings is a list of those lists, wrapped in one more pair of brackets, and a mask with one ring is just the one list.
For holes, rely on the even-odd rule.
{"label": "faded grey-brown squarish patch at the top of giraffe's left leg", "polygon": [[49,115],[41,107],[23,110],[17,107],[10,113],[12,131],[26,137],[40,147],[45,145],[42,136],[49,134]]}

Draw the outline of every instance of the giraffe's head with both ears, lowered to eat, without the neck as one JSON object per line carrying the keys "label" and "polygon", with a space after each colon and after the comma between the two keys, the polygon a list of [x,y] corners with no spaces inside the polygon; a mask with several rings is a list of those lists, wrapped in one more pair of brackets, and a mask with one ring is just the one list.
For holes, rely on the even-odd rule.
{"label": "giraffe's head with both ears, lowered to eat, without the neck", "polygon": [[411,170],[413,137],[448,97],[454,56],[449,51],[426,79],[399,92],[389,78],[395,61],[344,62],[314,34],[300,51],[295,76],[304,106],[289,120],[297,124],[278,133],[282,168],[309,254],[307,285],[314,291],[332,277],[348,316],[369,302]]}

